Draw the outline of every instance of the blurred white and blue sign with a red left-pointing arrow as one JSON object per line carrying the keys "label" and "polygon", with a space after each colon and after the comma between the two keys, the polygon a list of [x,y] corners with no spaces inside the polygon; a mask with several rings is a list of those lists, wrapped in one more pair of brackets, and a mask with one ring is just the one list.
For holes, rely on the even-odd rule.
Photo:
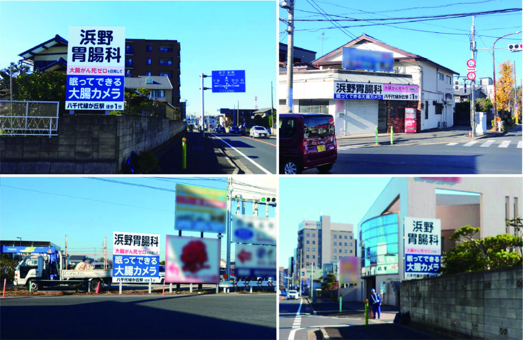
{"label": "blurred white and blue sign with a red left-pointing arrow", "polygon": [[240,278],[276,277],[276,247],[237,244],[235,272]]}

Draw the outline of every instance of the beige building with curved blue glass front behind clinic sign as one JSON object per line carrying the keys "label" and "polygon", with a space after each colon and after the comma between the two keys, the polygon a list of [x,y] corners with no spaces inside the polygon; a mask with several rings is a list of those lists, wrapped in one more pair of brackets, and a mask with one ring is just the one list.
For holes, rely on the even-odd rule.
{"label": "beige building with curved blue glass front behind clinic sign", "polygon": [[[462,226],[479,227],[481,238],[514,234],[506,220],[521,216],[522,182],[521,177],[393,178],[358,224],[361,275],[353,296],[364,301],[376,288],[385,304],[398,305],[401,281],[437,275],[427,270],[413,276],[407,255],[421,250],[439,266],[438,254],[454,245],[449,237]],[[420,224],[413,235],[416,220],[430,223]],[[430,234],[436,225],[437,234]]]}

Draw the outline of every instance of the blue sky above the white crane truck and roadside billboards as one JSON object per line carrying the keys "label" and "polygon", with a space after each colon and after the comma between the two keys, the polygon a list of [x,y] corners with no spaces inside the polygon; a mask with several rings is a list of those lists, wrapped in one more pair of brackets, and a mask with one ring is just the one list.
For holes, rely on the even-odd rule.
{"label": "blue sky above the white crane truck and roadside billboards", "polygon": [[[160,256],[165,257],[165,235],[174,230],[176,183],[225,189],[226,179],[111,177],[110,180],[146,185],[136,187],[87,177],[0,178],[0,239],[50,241],[70,254],[97,254],[107,236],[112,258],[112,232],[160,234]],[[234,205],[235,206],[235,205]],[[246,214],[252,205],[246,206]],[[265,209],[263,210],[265,212]],[[274,217],[274,210],[269,210]],[[183,232],[183,236],[200,233]],[[217,237],[204,233],[204,237]],[[225,242],[222,239],[222,259]],[[232,246],[234,259],[234,246]]]}

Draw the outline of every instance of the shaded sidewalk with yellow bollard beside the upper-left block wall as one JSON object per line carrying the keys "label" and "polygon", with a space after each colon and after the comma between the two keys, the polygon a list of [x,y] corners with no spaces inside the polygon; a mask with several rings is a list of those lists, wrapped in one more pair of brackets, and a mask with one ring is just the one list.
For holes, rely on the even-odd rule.
{"label": "shaded sidewalk with yellow bollard beside the upper-left block wall", "polygon": [[[182,169],[182,138],[186,138],[187,168]],[[242,173],[210,136],[189,132],[156,151],[161,171],[169,174],[236,174]]]}

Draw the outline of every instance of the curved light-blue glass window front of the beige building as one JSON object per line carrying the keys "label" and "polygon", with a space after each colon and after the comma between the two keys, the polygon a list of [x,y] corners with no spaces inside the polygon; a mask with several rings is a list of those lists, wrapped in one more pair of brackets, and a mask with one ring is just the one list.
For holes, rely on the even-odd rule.
{"label": "curved light-blue glass window front of the beige building", "polygon": [[361,224],[361,276],[399,273],[398,230],[397,214]]}

